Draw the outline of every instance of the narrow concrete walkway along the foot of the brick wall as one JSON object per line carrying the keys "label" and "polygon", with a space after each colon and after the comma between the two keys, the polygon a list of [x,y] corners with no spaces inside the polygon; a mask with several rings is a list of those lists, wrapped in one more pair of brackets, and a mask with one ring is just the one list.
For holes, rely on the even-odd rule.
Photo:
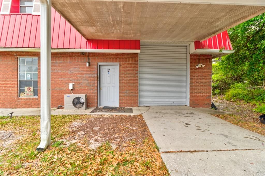
{"label": "narrow concrete walkway along the foot of the brick wall", "polygon": [[[89,114],[89,115],[138,115],[141,114],[141,111],[138,107],[133,108],[133,113],[90,113],[94,108],[87,108],[86,110],[64,110],[64,109],[51,109],[52,115],[71,115],[71,114]],[[40,115],[40,108],[22,108],[22,109],[0,109],[0,116],[7,115],[11,112],[14,112],[12,115]]]}

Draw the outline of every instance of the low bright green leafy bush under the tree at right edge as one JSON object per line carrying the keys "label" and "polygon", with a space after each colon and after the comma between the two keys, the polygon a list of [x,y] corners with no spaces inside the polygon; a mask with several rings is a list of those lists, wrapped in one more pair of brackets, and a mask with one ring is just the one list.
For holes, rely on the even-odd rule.
{"label": "low bright green leafy bush under the tree at right edge", "polygon": [[244,100],[247,103],[265,103],[265,90],[248,90],[245,83],[236,83],[226,92],[228,101]]}

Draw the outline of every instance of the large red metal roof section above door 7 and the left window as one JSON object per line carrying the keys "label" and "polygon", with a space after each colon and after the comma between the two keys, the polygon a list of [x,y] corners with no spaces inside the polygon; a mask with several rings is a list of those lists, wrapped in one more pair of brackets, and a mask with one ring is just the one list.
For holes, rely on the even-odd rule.
{"label": "large red metal roof section above door 7 and the left window", "polygon": [[[0,15],[0,47],[40,48],[40,15]],[[51,47],[63,49],[140,49],[139,40],[86,40],[52,8]]]}

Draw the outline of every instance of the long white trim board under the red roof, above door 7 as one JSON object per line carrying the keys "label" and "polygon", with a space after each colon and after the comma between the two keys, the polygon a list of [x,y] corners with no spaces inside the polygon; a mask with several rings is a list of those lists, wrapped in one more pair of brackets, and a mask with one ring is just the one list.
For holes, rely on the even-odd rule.
{"label": "long white trim board under the red roof, above door 7", "polygon": [[[6,48],[0,47],[0,51],[25,51],[40,52],[40,48]],[[76,52],[76,53],[140,53],[140,49],[51,49],[51,52]]]}

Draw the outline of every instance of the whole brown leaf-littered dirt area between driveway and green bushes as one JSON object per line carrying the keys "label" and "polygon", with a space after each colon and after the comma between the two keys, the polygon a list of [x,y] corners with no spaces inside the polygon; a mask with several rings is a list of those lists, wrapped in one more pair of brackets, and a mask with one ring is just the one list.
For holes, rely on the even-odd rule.
{"label": "whole brown leaf-littered dirt area between driveway and green bushes", "polygon": [[256,108],[256,105],[243,101],[227,101],[223,96],[214,96],[212,101],[218,110],[229,113],[213,114],[214,116],[250,131],[265,135],[265,125],[260,123],[258,118],[261,114],[253,110]]}

